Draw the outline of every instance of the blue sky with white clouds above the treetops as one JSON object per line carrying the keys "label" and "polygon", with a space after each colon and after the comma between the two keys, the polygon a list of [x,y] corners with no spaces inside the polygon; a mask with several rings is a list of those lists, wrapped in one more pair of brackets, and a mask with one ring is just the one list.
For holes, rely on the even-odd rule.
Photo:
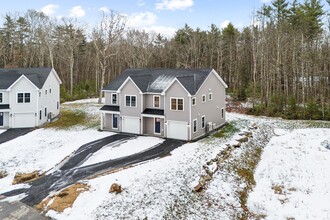
{"label": "blue sky with white clouds above the treetops", "polygon": [[[156,31],[166,36],[185,23],[206,30],[212,23],[224,27],[229,22],[237,28],[250,23],[253,11],[271,0],[9,0],[1,4],[0,14],[43,11],[52,17],[77,17],[95,25],[100,10],[115,10],[129,18],[130,27]],[[325,0],[322,0],[325,3]],[[327,7],[328,8],[328,7]]]}

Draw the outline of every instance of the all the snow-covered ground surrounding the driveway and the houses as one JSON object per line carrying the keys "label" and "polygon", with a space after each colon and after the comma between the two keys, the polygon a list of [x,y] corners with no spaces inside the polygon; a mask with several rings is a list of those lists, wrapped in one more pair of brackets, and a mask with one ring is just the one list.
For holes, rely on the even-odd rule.
{"label": "all the snow-covered ground surrounding the driveway and the houses", "polygon": [[[97,116],[101,105],[96,102],[96,99],[76,101],[65,103],[62,108],[78,108]],[[91,188],[79,195],[72,208],[63,213],[49,211],[47,215],[54,219],[237,219],[243,212],[237,193],[245,185],[230,166],[249,153],[247,149],[259,146],[265,151],[256,170],[256,188],[249,196],[250,211],[268,219],[315,219],[315,213],[321,213],[317,215],[320,219],[328,217],[326,204],[330,196],[326,190],[330,189],[330,181],[326,178],[329,166],[325,164],[330,164],[330,150],[322,147],[322,141],[329,138],[329,122],[287,121],[234,113],[227,114],[227,119],[241,130],[252,123],[259,128],[254,131],[253,139],[233,151],[228,164],[213,176],[203,192],[192,191],[203,174],[202,166],[221,152],[226,143],[234,141],[239,132],[225,139],[210,137],[187,143],[170,156],[85,180]],[[0,179],[0,193],[14,188],[11,181],[15,172],[49,170],[82,144],[110,134],[86,128],[38,129],[0,145],[0,170],[9,173]],[[105,146],[84,165],[127,156],[162,141],[138,137],[115,148]],[[317,182],[318,178],[323,179]],[[108,193],[114,182],[122,185],[121,194]],[[278,204],[284,195],[274,194],[278,187],[285,192],[284,204]],[[316,203],[324,205],[315,207]],[[279,209],[281,212],[277,213]],[[293,214],[286,215],[290,210]]]}

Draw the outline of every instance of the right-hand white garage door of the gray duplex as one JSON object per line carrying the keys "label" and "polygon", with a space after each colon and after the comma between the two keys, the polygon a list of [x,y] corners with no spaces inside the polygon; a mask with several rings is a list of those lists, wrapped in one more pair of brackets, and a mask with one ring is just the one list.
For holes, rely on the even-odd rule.
{"label": "right-hand white garage door of the gray duplex", "polygon": [[167,138],[188,140],[187,122],[167,121]]}

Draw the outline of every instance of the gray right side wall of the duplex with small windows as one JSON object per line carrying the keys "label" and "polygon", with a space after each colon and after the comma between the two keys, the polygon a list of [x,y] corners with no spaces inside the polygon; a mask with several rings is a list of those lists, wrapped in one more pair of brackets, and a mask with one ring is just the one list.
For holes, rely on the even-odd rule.
{"label": "gray right side wall of the duplex with small windows", "polygon": [[[209,100],[212,93],[212,100]],[[202,95],[206,95],[206,102],[202,102]],[[191,137],[198,138],[205,134],[207,123],[215,123],[219,127],[225,123],[225,87],[219,79],[211,73],[196,94],[196,105],[191,106]],[[224,109],[224,118],[221,118],[221,109]],[[205,115],[205,128],[201,128],[202,116]],[[193,132],[193,120],[197,119],[197,132]]]}

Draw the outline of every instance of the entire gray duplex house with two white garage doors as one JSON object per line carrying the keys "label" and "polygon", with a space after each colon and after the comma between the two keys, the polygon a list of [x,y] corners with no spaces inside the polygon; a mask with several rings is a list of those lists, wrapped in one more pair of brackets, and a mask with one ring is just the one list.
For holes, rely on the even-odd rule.
{"label": "entire gray duplex house with two white garage doors", "polygon": [[127,69],[104,87],[101,130],[194,140],[225,123],[213,69]]}

